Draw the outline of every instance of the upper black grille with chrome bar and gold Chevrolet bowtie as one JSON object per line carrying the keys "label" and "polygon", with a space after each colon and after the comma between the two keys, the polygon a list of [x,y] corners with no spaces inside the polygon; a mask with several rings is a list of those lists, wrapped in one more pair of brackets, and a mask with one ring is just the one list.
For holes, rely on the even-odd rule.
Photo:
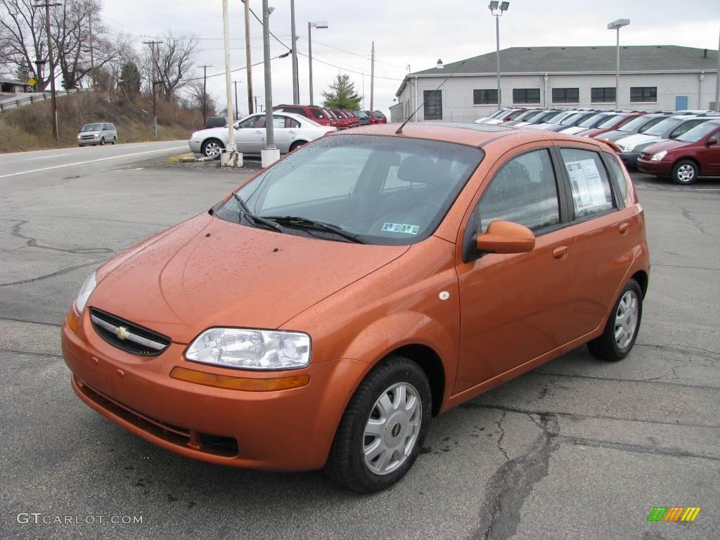
{"label": "upper black grille with chrome bar and gold Chevrolet bowtie", "polygon": [[90,320],[98,336],[130,354],[157,356],[170,346],[170,338],[94,307]]}

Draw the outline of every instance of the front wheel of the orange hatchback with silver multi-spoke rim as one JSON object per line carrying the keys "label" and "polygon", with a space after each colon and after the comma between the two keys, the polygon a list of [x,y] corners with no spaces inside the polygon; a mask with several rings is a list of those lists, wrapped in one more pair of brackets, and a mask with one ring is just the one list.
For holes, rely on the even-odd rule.
{"label": "front wheel of the orange hatchback with silver multi-spoke rim", "polygon": [[395,484],[420,454],[431,402],[430,384],[420,366],[402,356],[388,356],[351,397],[325,472],[359,493]]}

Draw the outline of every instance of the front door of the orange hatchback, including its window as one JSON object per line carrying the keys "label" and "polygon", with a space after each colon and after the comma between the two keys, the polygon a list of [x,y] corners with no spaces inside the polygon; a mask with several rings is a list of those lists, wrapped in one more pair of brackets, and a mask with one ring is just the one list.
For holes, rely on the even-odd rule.
{"label": "front door of the orange hatchback, including its window", "polygon": [[[494,220],[534,231],[529,253],[479,256],[457,266],[460,352],[454,392],[497,377],[561,346],[573,287],[572,235],[562,227],[559,184],[548,148],[513,150],[474,207],[465,246]],[[469,242],[469,243],[468,243]],[[471,248],[472,249],[472,248]]]}

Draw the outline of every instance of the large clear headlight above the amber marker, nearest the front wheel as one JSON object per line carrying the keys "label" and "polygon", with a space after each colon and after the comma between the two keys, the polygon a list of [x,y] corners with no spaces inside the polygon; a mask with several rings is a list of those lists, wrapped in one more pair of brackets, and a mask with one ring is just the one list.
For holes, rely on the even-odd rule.
{"label": "large clear headlight above the amber marker, nearest the front wheel", "polygon": [[310,364],[310,336],[284,330],[209,328],[185,358],[238,369],[297,369]]}

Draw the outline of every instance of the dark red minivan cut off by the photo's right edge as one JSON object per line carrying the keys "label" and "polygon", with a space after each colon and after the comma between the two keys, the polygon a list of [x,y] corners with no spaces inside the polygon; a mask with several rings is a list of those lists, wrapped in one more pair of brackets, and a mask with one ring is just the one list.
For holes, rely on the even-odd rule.
{"label": "dark red minivan cut off by the photo's right edge", "polygon": [[698,124],[674,140],[645,148],[639,171],[670,176],[675,184],[694,184],[698,176],[720,176],[720,118]]}

